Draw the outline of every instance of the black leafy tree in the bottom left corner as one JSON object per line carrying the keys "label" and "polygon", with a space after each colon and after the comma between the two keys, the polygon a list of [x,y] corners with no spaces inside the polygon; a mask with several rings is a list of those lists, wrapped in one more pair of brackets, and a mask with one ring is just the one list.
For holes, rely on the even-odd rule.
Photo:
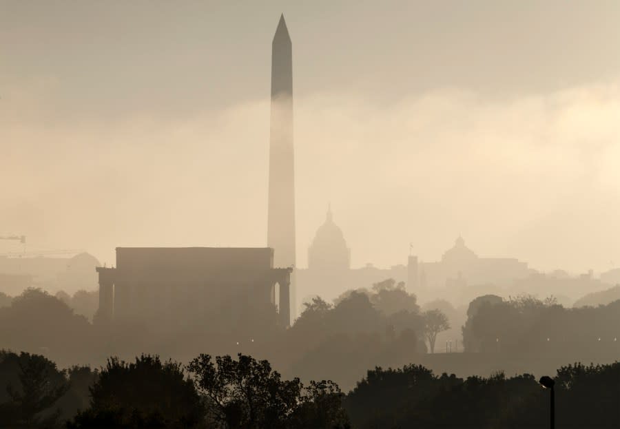
{"label": "black leafy tree in the bottom left corner", "polygon": [[17,360],[19,387],[7,386],[10,401],[2,404],[0,414],[5,423],[14,427],[52,428],[59,420],[61,410],[50,410],[68,390],[65,373],[56,364],[41,355],[21,353],[5,358]]}

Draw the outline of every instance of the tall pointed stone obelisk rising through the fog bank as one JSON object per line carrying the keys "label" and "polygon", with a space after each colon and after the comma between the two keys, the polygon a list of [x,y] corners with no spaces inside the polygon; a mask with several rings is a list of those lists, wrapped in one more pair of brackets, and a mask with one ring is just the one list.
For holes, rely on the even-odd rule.
{"label": "tall pointed stone obelisk rising through the fog bank", "polygon": [[[267,246],[273,265],[295,265],[295,169],[293,156],[293,52],[284,15],[271,43],[271,129]],[[295,317],[295,281],[291,275],[291,317]]]}

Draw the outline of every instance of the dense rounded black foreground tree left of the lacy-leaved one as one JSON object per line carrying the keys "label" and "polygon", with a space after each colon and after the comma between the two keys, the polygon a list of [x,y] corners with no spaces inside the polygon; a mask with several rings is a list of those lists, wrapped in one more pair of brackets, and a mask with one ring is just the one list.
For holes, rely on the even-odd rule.
{"label": "dense rounded black foreground tree left of the lacy-leaved one", "polygon": [[90,408],[70,428],[195,428],[205,408],[183,366],[141,355],[127,363],[112,357],[90,388]]}

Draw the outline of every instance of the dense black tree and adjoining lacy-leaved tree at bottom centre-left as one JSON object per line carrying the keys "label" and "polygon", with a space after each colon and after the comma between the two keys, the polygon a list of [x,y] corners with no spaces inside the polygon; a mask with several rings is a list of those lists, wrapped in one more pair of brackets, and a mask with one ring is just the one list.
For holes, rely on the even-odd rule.
{"label": "dense black tree and adjoining lacy-leaved tree at bottom centre-left", "polygon": [[245,355],[200,355],[187,368],[149,355],[112,358],[90,393],[68,428],[349,428],[332,381],[304,387]]}

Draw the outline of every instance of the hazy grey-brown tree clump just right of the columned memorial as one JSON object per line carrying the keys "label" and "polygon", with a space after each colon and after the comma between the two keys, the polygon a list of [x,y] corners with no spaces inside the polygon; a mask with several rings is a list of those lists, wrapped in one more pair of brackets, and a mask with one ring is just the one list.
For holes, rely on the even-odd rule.
{"label": "hazy grey-brown tree clump just right of the columned memorial", "polygon": [[[404,293],[391,281],[378,289],[390,289],[386,296]],[[276,362],[288,364],[302,379],[317,374],[338,377],[341,386],[350,388],[371,366],[402,365],[426,353],[422,316],[404,309],[385,315],[371,302],[373,296],[357,290],[335,306],[320,297],[305,303],[306,309],[286,332],[287,347],[274,357],[281,359]]]}

